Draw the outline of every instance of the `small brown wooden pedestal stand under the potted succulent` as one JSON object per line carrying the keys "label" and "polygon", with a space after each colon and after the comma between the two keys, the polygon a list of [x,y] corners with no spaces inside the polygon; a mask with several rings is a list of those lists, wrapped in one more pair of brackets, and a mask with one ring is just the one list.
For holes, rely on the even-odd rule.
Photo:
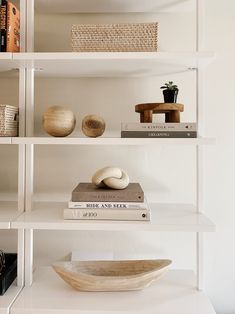
{"label": "small brown wooden pedestal stand under the potted succulent", "polygon": [[140,114],[140,122],[152,123],[153,114],[165,113],[165,122],[180,122],[180,112],[184,105],[176,103],[149,103],[135,106],[135,112]]}

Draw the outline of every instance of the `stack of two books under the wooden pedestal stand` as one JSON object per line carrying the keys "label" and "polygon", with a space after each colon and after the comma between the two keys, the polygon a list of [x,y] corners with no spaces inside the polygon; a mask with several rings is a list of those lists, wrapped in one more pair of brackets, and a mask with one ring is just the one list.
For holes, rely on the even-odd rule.
{"label": "stack of two books under the wooden pedestal stand", "polygon": [[123,138],[196,138],[197,124],[184,123],[122,123]]}

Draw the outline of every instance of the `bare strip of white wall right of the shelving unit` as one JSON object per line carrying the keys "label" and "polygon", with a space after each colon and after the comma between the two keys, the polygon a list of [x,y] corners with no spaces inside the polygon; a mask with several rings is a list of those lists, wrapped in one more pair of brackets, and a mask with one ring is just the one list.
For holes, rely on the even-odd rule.
{"label": "bare strip of white wall right of the shelving unit", "polygon": [[235,106],[234,91],[235,2],[206,4],[206,50],[216,51],[215,62],[206,71],[206,133],[217,145],[207,150],[206,211],[217,232],[205,236],[206,290],[218,313],[235,313]]}

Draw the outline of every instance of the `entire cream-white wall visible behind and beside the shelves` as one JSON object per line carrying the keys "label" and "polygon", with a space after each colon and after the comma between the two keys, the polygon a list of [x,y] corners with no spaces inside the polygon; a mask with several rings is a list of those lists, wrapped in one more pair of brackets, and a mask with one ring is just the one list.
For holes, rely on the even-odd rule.
{"label": "entire cream-white wall visible behind and beside the shelves", "polygon": [[[205,211],[217,225],[215,234],[205,234],[205,290],[219,314],[235,313],[235,144],[233,60],[235,49],[234,0],[205,1],[205,50],[216,51],[217,58],[205,71],[204,119],[206,136],[215,136],[215,147],[205,148]],[[177,16],[148,15],[74,15],[73,22],[151,20],[159,21],[159,50],[194,50],[195,19],[192,14]],[[69,51],[68,31],[71,16],[38,16],[36,49]],[[53,26],[55,25],[55,26]],[[51,41],[57,33],[60,39]],[[57,37],[58,38],[58,37]],[[195,120],[195,74],[181,73],[145,79],[45,79],[36,80],[36,133],[43,134],[41,115],[48,106],[68,105],[76,113],[75,135],[81,135],[81,119],[98,113],[107,122],[108,131],[117,131],[123,121],[138,121],[134,105],[161,99],[159,86],[173,79],[180,86],[179,101],[186,105],[183,121]],[[17,101],[15,79],[12,93],[7,80],[0,79],[1,102]],[[121,95],[121,97],[120,97]],[[17,152],[0,147],[0,196],[16,195]],[[107,164],[120,165],[132,180],[143,185],[150,200],[195,202],[195,150],[189,147],[151,147],[95,149],[85,147],[36,148],[35,198],[68,200],[77,181],[89,180],[92,173]],[[8,159],[10,157],[10,159]],[[128,158],[127,158],[128,156]],[[72,165],[72,166],[71,166]],[[177,167],[175,167],[177,165]],[[87,252],[112,251],[115,258],[168,257],[175,268],[195,269],[195,236],[168,233],[44,232],[35,234],[35,263],[47,265],[66,257],[73,249]],[[13,232],[0,233],[0,246],[16,247]]]}

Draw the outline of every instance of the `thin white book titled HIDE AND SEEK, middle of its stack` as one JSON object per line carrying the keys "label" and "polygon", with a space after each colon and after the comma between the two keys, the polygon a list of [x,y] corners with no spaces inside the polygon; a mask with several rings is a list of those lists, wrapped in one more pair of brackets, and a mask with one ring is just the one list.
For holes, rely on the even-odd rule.
{"label": "thin white book titled HIDE AND SEEK, middle of its stack", "polygon": [[123,203],[123,202],[72,202],[68,203],[69,208],[88,209],[145,209],[146,203]]}

